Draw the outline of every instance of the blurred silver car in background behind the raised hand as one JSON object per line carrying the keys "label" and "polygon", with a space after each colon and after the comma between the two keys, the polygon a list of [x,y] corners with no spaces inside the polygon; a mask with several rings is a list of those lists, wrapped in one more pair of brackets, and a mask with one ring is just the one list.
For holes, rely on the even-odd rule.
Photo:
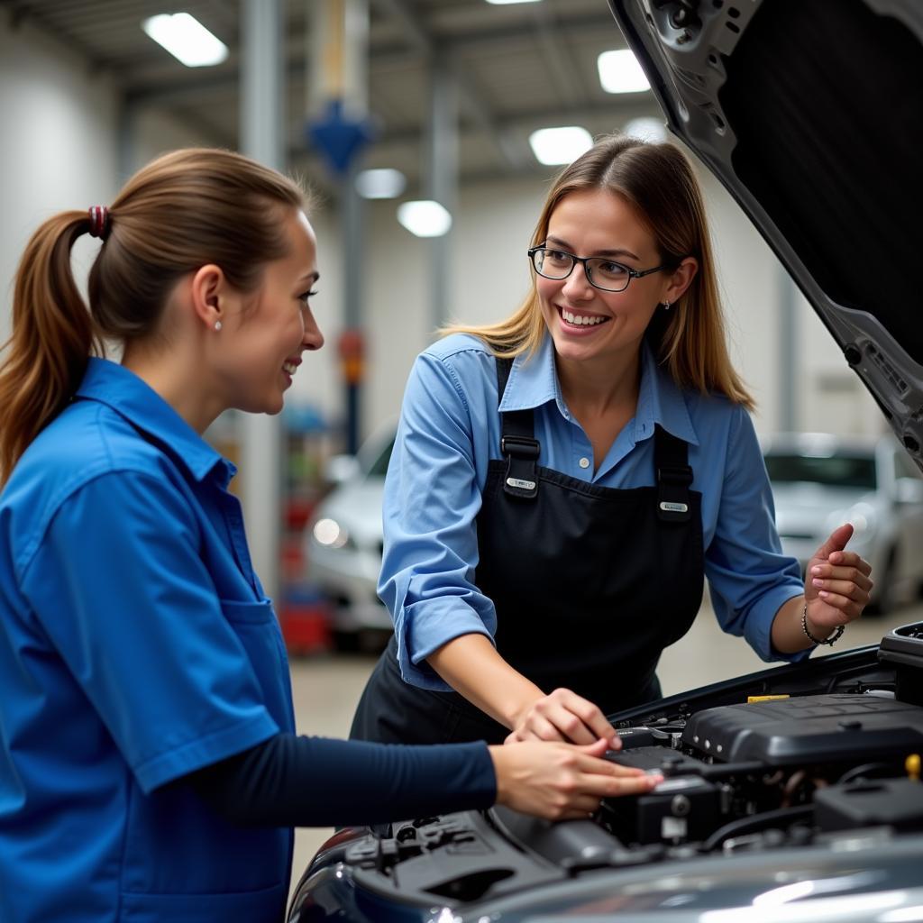
{"label": "blurred silver car in background behind the raised hand", "polygon": [[893,436],[826,433],[763,442],[783,550],[802,570],[833,528],[852,522],[849,547],[872,566],[875,611],[915,597],[923,584],[923,475]]}

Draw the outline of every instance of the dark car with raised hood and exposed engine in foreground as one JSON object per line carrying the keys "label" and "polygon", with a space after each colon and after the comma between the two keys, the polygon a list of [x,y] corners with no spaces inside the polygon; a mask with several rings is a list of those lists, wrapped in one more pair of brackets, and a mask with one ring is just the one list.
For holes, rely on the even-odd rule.
{"label": "dark car with raised hood and exposed engine in foreground", "polygon": [[[669,126],[918,466],[918,0],[609,6]],[[665,774],[652,793],[584,821],[494,808],[342,831],[290,921],[923,920],[923,623],[610,718],[625,743],[611,758]]]}

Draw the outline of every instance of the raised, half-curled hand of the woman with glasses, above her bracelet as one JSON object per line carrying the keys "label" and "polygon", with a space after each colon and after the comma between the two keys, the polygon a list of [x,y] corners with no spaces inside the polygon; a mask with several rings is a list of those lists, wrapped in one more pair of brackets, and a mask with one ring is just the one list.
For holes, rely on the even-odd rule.
{"label": "raised, half-curled hand of the woman with glasses, above her bracelet", "polygon": [[[805,603],[811,634],[829,635],[862,615],[869,603],[871,565],[855,551],[845,551],[853,534],[850,523],[833,530],[805,569]],[[813,630],[812,630],[813,629]]]}

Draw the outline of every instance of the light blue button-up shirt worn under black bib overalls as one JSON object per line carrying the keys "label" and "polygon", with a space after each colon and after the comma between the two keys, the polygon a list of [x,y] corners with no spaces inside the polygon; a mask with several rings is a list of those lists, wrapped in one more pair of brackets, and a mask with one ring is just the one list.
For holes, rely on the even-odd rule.
{"label": "light blue button-up shirt worn under black bib overalls", "polygon": [[[514,360],[499,405],[500,411],[526,409],[534,411],[539,463],[593,485],[653,485],[655,424],[688,442],[691,489],[702,497],[705,576],[719,624],[744,636],[763,660],[808,655],[777,653],[770,640],[779,606],[803,593],[804,584],[795,558],[782,554],[769,479],[745,408],[678,388],[645,346],[637,411],[593,471],[593,446],[561,394],[554,345],[545,335],[535,354]],[[480,339],[453,334],[414,363],[385,480],[378,593],[394,620],[402,677],[415,686],[449,689],[426,657],[463,634],[493,638],[497,628],[494,605],[476,585],[475,518],[487,464],[500,457],[496,362]],[[516,540],[527,544],[529,536]],[[561,630],[567,630],[565,613]],[[554,656],[553,642],[548,655]]]}

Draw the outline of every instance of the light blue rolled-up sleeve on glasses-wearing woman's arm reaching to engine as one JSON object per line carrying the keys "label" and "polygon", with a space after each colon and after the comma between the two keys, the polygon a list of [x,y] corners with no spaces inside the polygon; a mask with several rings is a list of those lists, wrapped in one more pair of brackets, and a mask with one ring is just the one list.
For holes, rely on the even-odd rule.
{"label": "light blue rolled-up sleeve on glasses-wearing woman's arm reaching to engine", "polygon": [[464,634],[492,638],[497,625],[474,583],[484,477],[475,442],[490,428],[483,404],[470,405],[443,358],[419,356],[385,480],[378,593],[394,621],[402,677],[426,689],[450,689],[426,664],[430,653]]}

